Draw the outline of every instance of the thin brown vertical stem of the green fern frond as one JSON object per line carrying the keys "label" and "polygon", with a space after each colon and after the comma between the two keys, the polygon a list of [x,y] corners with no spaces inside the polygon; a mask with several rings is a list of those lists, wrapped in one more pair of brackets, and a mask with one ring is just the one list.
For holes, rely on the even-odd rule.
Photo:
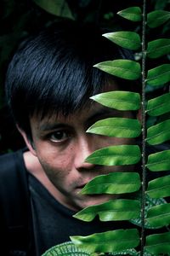
{"label": "thin brown vertical stem of the green fern frond", "polygon": [[145,79],[146,79],[146,67],[145,67],[145,24],[146,24],[146,0],[143,2],[143,23],[142,23],[142,209],[141,209],[141,249],[140,255],[144,255],[144,208],[145,208],[145,187],[146,187],[146,172],[145,172]]}

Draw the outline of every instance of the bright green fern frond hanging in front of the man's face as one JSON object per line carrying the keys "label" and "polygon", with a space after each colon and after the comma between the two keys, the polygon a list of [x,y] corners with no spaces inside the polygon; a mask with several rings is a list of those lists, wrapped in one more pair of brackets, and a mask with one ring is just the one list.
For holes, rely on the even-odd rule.
{"label": "bright green fern frond hanging in front of the man's face", "polygon": [[[146,9],[146,2],[144,1],[144,10]],[[127,20],[132,21],[140,21],[142,16],[147,20],[147,26],[150,28],[161,26],[170,18],[170,12],[157,10],[152,11],[146,15],[146,13],[142,13],[142,10],[138,7],[130,7],[128,9],[122,10],[118,13],[122,15],[122,17]],[[147,86],[160,86],[166,84],[170,81],[170,64],[161,62],[156,67],[151,67],[150,69],[146,69],[146,56],[148,58],[158,58],[163,55],[167,55],[169,53],[169,39],[168,38],[158,38],[156,40],[152,40],[148,42],[148,47],[145,49],[145,41],[146,41],[146,23],[143,20],[143,30],[142,30],[142,42],[140,43],[139,34],[136,32],[113,32],[105,34],[105,38],[108,38],[113,42],[113,44],[118,44],[127,49],[139,49],[140,45],[142,45],[142,62],[139,64],[137,61],[124,61],[124,60],[116,60],[116,61],[105,61],[96,64],[94,67],[97,67],[106,73],[111,73],[122,79],[142,79],[143,83],[143,91],[142,91],[142,157],[143,157],[143,165],[142,165],[142,195],[139,198],[139,201],[132,200],[129,201],[129,205],[123,199],[116,199],[114,201],[105,202],[99,206],[87,207],[81,212],[76,214],[76,218],[80,218],[84,221],[91,221],[94,219],[96,215],[99,215],[101,221],[107,220],[125,220],[131,219],[133,214],[139,214],[139,206],[141,201],[141,212],[139,225],[142,226],[142,234],[136,233],[136,238],[139,240],[141,236],[141,250],[140,252],[134,253],[133,255],[157,255],[158,253],[170,253],[169,247],[169,233],[164,233],[160,235],[152,235],[147,236],[147,231],[145,229],[150,227],[151,229],[159,229],[164,226],[168,226],[170,224],[170,204],[166,203],[166,201],[157,201],[156,205],[151,206],[147,212],[145,211],[145,202],[148,197],[150,197],[150,201],[152,198],[162,198],[170,195],[169,193],[169,175],[165,175],[163,177],[158,177],[156,179],[150,180],[148,185],[146,184],[146,177],[148,176],[148,172],[159,172],[161,171],[169,171],[170,169],[170,150],[161,150],[160,152],[150,154],[148,159],[146,159],[146,143],[150,145],[156,145],[165,143],[170,138],[169,127],[170,121],[169,119],[163,119],[161,122],[157,122],[156,125],[151,125],[148,130],[145,130],[144,124],[146,123],[147,114],[153,116],[160,116],[163,113],[169,113],[169,93],[162,94],[161,96],[157,96],[155,98],[150,99],[147,103]],[[146,55],[145,55],[146,52]],[[140,68],[141,67],[141,68]],[[146,75],[144,75],[146,73]],[[119,108],[119,104],[123,102],[122,110],[128,109],[128,104],[130,103],[130,97],[128,97],[129,92],[123,92],[123,100],[122,96],[120,98],[120,102],[118,102],[118,94],[117,92],[101,94],[99,96],[93,96],[92,98],[110,108]],[[116,97],[117,96],[117,97]],[[131,98],[132,99],[132,98]],[[114,103],[113,103],[114,102]],[[146,104],[145,104],[146,103]],[[133,102],[134,106],[131,109],[139,109],[138,100],[137,102]],[[137,107],[137,105],[138,107]],[[134,123],[133,123],[134,122]],[[140,134],[140,125],[138,126],[137,120],[131,119],[104,119],[92,127],[88,129],[88,132],[97,133],[105,136],[112,137],[139,137]],[[123,132],[123,128],[126,130]],[[135,148],[136,147],[136,148]],[[126,156],[126,157],[125,157]],[[109,148],[102,148],[95,151],[93,154],[88,156],[87,161],[99,165],[106,166],[117,166],[117,165],[128,165],[132,163],[138,163],[140,160],[140,151],[138,146],[135,145],[122,145],[122,146],[111,146]],[[128,160],[127,160],[128,159]],[[130,163],[131,160],[132,162]],[[128,162],[129,161],[129,162]],[[123,172],[122,172],[123,173]],[[88,185],[82,189],[83,194],[95,194],[94,187],[96,186],[98,193],[113,193],[113,194],[121,194],[122,191],[118,189],[119,186],[122,186],[122,173],[116,173],[116,179],[112,180],[109,176],[101,176],[95,177],[93,181],[88,183]],[[128,176],[129,174],[129,176]],[[114,175],[114,174],[112,174]],[[126,173],[127,175],[127,183],[130,187],[130,177],[132,173]],[[108,179],[108,183],[107,183]],[[139,182],[140,183],[140,182]],[[107,184],[105,186],[105,184]],[[101,185],[101,186],[100,186]],[[102,187],[104,187],[102,189]],[[111,189],[110,189],[111,187]],[[113,189],[115,187],[115,189]],[[99,189],[99,190],[98,190]],[[101,190],[100,190],[101,189]],[[112,190],[113,189],[113,190]],[[117,189],[117,192],[116,192]],[[136,188],[137,189],[137,188]],[[139,188],[138,188],[139,189]],[[109,192],[108,192],[109,191]],[[130,190],[128,191],[130,193]],[[121,206],[120,206],[121,203]],[[134,205],[131,205],[134,204]],[[136,204],[136,206],[135,206]],[[129,209],[133,209],[132,212]],[[117,211],[117,212],[115,212]],[[139,212],[138,212],[139,211]],[[126,213],[125,213],[126,212]],[[118,213],[118,214],[117,214]],[[120,216],[119,215],[122,215]],[[133,217],[132,217],[133,218]],[[137,217],[139,219],[139,217]],[[134,220],[132,219],[133,223]],[[126,227],[126,226],[125,226]],[[116,230],[115,232],[122,232],[122,230]],[[112,231],[111,231],[112,232]],[[130,232],[130,230],[129,230]],[[71,240],[74,241],[77,246],[82,248],[87,247],[90,252],[101,252],[101,253],[115,253],[114,255],[118,255],[119,252],[122,254],[125,252],[124,250],[124,240],[127,242],[128,235],[126,233],[122,236],[119,236],[120,239],[113,241],[112,233],[102,233],[95,234],[92,236],[88,236],[87,238],[76,236],[71,237]],[[128,234],[128,233],[127,233]],[[107,239],[106,239],[107,236]],[[146,238],[146,244],[144,244],[144,240]],[[98,239],[101,239],[101,243],[98,246]],[[88,243],[88,244],[87,244]],[[117,243],[115,245],[115,243]],[[128,243],[128,242],[127,242]],[[114,244],[114,246],[112,246]],[[161,247],[161,244],[163,248]],[[126,246],[129,248],[132,247],[132,243],[129,239],[129,244]],[[135,246],[134,246],[135,247]],[[129,252],[127,252],[129,253]],[[131,254],[131,253],[129,253]],[[164,255],[164,254],[162,254]],[[167,255],[167,254],[166,254]]]}

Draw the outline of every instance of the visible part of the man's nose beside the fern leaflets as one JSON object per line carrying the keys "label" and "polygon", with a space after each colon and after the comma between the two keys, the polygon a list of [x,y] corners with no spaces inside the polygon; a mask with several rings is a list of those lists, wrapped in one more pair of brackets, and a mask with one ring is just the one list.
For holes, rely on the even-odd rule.
{"label": "visible part of the man's nose beside the fern leaflets", "polygon": [[95,165],[86,162],[89,154],[99,148],[98,140],[95,135],[86,135],[78,140],[77,152],[75,152],[75,167],[77,170],[92,169]]}

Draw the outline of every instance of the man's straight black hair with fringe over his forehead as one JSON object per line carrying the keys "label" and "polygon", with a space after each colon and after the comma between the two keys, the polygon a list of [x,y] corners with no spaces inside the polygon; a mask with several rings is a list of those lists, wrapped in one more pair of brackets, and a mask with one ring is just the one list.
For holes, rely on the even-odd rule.
{"label": "man's straight black hair with fringe over his forehead", "polygon": [[109,75],[94,64],[132,59],[102,33],[92,25],[64,20],[20,44],[8,66],[6,95],[15,122],[27,135],[32,115],[56,112],[67,116],[101,92]]}

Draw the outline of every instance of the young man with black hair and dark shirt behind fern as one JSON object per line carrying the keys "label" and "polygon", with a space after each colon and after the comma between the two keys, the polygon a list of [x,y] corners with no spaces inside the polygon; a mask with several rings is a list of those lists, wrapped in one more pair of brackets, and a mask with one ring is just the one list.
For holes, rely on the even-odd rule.
{"label": "young man with black hair and dark shirt behind fern", "polygon": [[[8,67],[6,93],[27,147],[0,159],[3,255],[41,255],[70,236],[115,228],[112,222],[95,219],[88,224],[72,215],[111,197],[80,195],[86,183],[99,174],[122,170],[122,166],[95,166],[84,160],[96,149],[130,143],[86,132],[99,119],[133,117],[89,100],[105,91],[133,90],[132,82],[125,84],[93,67],[124,58],[131,56],[102,37],[99,29],[71,20],[20,44]],[[9,193],[7,183],[18,194]],[[8,194],[12,200],[7,209]]]}

